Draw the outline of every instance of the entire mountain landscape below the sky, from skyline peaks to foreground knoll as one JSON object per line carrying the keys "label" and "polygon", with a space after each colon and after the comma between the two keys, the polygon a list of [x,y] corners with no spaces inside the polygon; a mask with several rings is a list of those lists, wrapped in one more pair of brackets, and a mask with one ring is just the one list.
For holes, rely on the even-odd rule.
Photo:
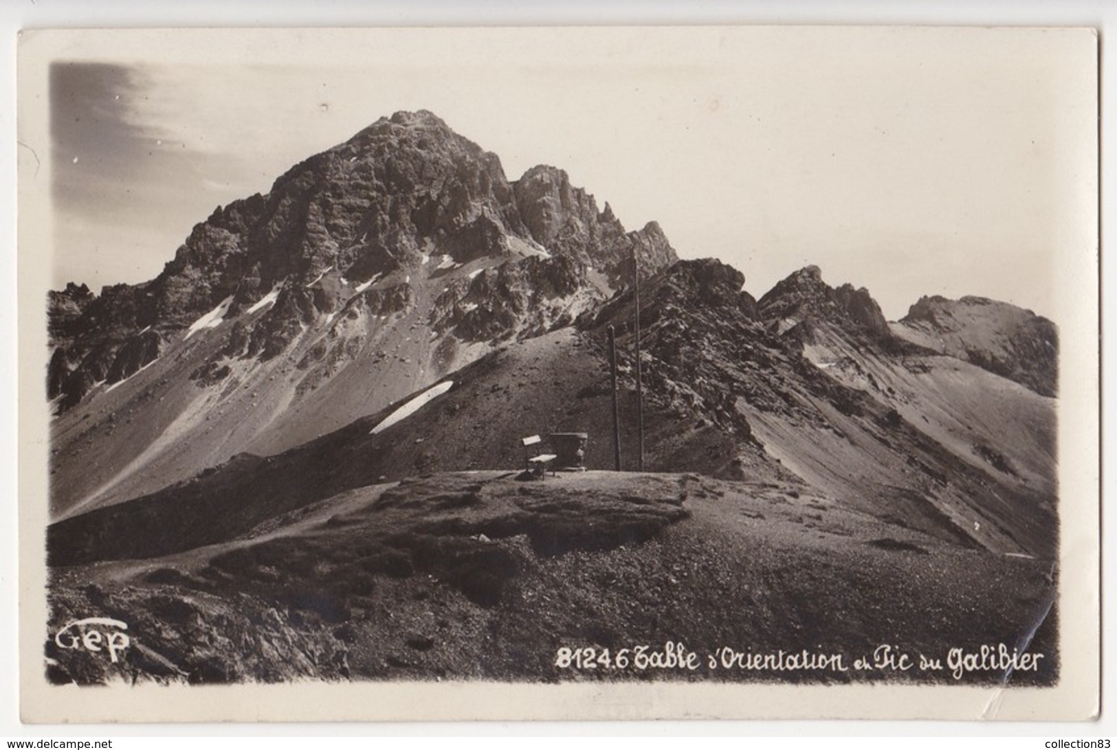
{"label": "entire mountain landscape below the sky, from skyline peaks to foreground knoll", "polygon": [[[973,297],[889,323],[815,267],[743,286],[398,113],[214,211],[156,279],[51,292],[49,627],[113,617],[130,646],[48,640],[48,675],[1057,680],[1053,324]],[[590,471],[522,481],[518,439],[556,431],[589,433]],[[611,661],[668,642],[1044,657]]]}

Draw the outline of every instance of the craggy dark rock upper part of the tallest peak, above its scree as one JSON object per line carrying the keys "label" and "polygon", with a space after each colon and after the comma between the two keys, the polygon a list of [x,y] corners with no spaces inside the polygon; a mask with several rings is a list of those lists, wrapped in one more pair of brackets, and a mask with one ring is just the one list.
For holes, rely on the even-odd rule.
{"label": "craggy dark rock upper part of the tallest peak, above its scree", "polygon": [[[69,408],[164,345],[227,336],[213,345],[221,362],[195,367],[197,387],[233,377],[238,359],[293,357],[303,397],[371,359],[392,381],[361,401],[376,408],[401,395],[391,388],[572,320],[628,283],[633,253],[646,276],[676,259],[658,225],[626,232],[565,171],[541,164],[510,183],[495,154],[433,113],[397,112],[294,165],[266,195],[219,206],[156,279],[96,299],[55,292],[49,393]],[[416,335],[422,326],[433,337]],[[461,354],[462,340],[480,346]],[[391,359],[389,343],[400,347]],[[315,364],[326,353],[330,364]]]}

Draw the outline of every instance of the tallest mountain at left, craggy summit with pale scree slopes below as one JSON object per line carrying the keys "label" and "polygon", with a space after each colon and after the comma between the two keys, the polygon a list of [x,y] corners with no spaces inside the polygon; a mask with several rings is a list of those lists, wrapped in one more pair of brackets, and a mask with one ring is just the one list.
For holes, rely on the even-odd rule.
{"label": "tallest mountain at left, craggy summit with pale scree slopes below", "polygon": [[[55,455],[98,467],[56,507],[344,426],[569,325],[628,282],[633,253],[645,275],[676,260],[657,224],[627,232],[561,170],[509,182],[428,112],[380,119],[218,208],[155,279],[51,292]],[[156,445],[117,432],[153,411]]]}

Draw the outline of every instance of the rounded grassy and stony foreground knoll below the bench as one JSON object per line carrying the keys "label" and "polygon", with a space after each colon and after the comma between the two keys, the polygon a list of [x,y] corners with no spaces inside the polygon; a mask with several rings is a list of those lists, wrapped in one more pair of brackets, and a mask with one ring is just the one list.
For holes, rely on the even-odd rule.
{"label": "rounded grassy and stony foreground knoll below the bench", "polygon": [[[1046,684],[1050,564],[965,549],[779,482],[586,472],[378,484],[189,551],[56,569],[66,621],[128,624],[117,664],[48,646],[77,681],[761,680]],[[941,658],[1027,645],[1035,671],[857,670],[881,645]],[[563,647],[684,643],[697,670],[561,666]],[[708,666],[719,650],[837,669]],[[560,664],[560,665],[556,665]],[[720,664],[720,662],[718,662]]]}

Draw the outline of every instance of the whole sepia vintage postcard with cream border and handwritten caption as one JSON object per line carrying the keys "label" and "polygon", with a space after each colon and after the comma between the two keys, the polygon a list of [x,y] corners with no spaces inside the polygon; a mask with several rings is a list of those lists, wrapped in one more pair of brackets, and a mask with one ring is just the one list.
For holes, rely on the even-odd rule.
{"label": "whole sepia vintage postcard with cream border and handwritten caption", "polygon": [[1083,720],[1092,29],[29,30],[30,722]]}

